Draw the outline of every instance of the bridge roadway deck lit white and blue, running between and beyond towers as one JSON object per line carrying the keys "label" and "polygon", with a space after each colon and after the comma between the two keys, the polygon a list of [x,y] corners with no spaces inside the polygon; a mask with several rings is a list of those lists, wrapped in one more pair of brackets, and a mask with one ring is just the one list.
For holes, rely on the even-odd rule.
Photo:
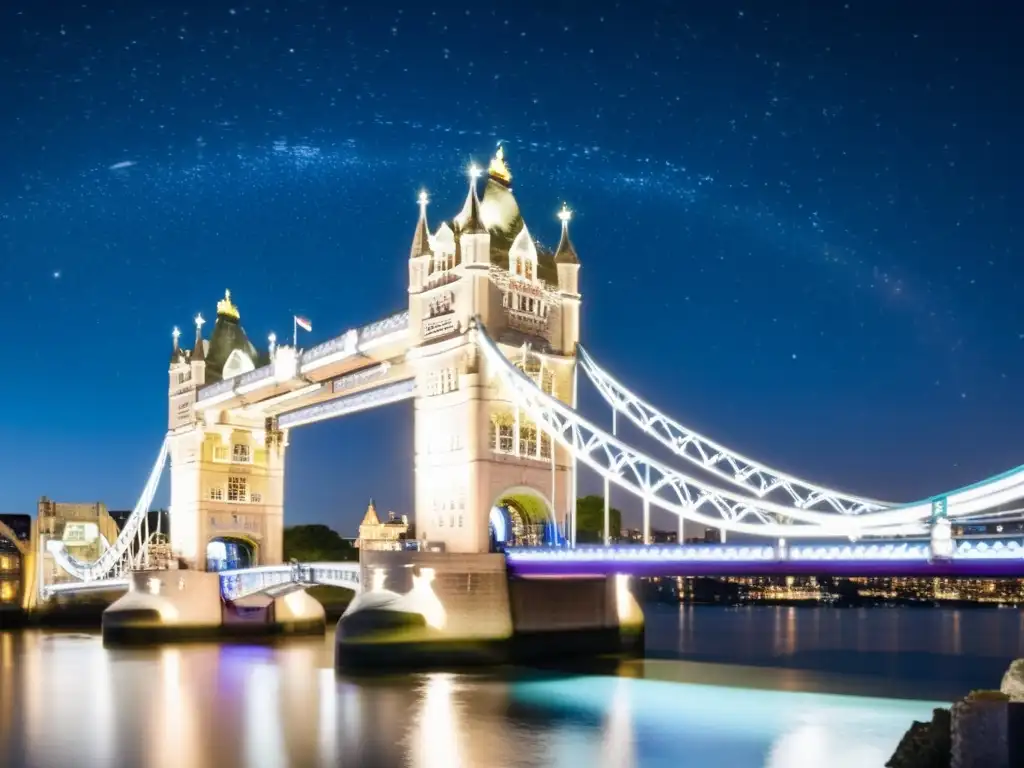
{"label": "bridge roadway deck lit white and blue, running between and beyond towers", "polygon": [[[933,558],[927,541],[769,545],[687,544],[644,547],[583,546],[511,549],[508,572],[524,579],[573,579],[629,573],[635,577],[821,575],[891,578],[1024,578],[1024,539],[965,539],[952,557]],[[315,585],[359,591],[356,562],[291,563],[220,573],[224,600],[255,594],[273,597]],[[69,582],[47,588],[50,595],[128,589],[126,579]]]}

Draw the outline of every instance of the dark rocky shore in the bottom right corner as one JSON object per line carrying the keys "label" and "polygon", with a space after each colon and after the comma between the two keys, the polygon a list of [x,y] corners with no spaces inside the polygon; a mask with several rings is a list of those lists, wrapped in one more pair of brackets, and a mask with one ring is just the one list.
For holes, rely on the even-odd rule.
{"label": "dark rocky shore in the bottom right corner", "polygon": [[974,691],[914,722],[887,768],[1024,768],[1024,658],[997,691]]}

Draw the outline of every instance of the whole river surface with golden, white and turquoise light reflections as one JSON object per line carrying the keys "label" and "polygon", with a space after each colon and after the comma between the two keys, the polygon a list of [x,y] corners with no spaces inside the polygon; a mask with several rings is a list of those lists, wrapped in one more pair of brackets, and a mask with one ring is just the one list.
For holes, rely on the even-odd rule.
{"label": "whole river surface with golden, white and turquoise light reflections", "polygon": [[913,719],[998,685],[1016,610],[649,606],[602,674],[339,676],[333,637],[104,649],[0,633],[0,765],[883,766]]}

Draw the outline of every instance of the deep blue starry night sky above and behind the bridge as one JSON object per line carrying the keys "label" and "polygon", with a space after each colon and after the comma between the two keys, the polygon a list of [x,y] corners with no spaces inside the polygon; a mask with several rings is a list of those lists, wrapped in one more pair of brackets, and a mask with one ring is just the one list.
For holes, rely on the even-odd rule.
{"label": "deep blue starry night sky above and behind the bridge", "polygon": [[[584,343],[683,423],[893,501],[1020,464],[1015,6],[4,0],[0,511],[132,506],[225,288],[258,345],[404,308],[417,191],[451,217],[499,140],[535,234],[575,211]],[[409,511],[411,417],[293,432],[288,521]]]}

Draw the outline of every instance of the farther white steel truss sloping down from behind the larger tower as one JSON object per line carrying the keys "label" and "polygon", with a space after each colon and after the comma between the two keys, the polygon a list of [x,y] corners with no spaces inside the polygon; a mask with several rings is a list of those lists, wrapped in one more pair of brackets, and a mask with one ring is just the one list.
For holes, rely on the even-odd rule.
{"label": "farther white steel truss sloping down from behind the larger tower", "polygon": [[578,347],[578,353],[577,359],[587,378],[611,408],[624,414],[645,434],[680,458],[726,482],[744,488],[758,499],[768,498],[772,494],[784,494],[788,497],[786,501],[799,509],[830,509],[846,515],[859,515],[896,506],[890,502],[852,496],[802,480],[715,442],[675,421],[627,389],[598,366],[582,345]]}

